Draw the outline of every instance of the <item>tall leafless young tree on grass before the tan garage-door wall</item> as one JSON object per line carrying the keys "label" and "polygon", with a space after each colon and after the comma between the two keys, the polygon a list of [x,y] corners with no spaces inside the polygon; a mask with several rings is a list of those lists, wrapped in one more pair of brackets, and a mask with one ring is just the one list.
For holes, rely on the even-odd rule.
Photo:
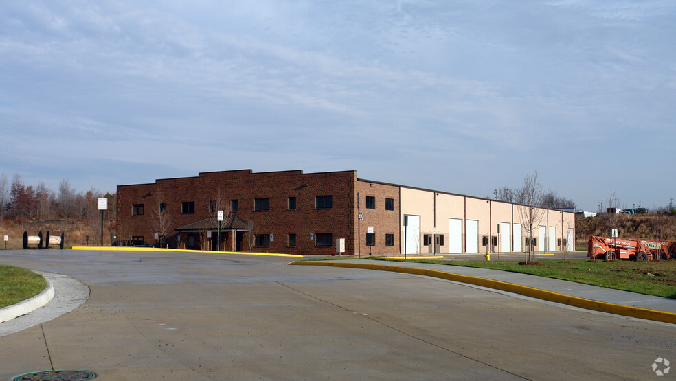
{"label": "tall leafless young tree on grass before the tan garage-door wall", "polygon": [[[545,209],[540,207],[542,203],[542,185],[537,177],[537,172],[533,171],[523,178],[523,185],[517,191],[517,202],[522,204],[519,207],[521,223],[528,231],[529,241],[533,240],[533,229],[539,227],[540,222],[545,215]],[[526,250],[526,262],[535,259],[534,246],[528,244]]]}

